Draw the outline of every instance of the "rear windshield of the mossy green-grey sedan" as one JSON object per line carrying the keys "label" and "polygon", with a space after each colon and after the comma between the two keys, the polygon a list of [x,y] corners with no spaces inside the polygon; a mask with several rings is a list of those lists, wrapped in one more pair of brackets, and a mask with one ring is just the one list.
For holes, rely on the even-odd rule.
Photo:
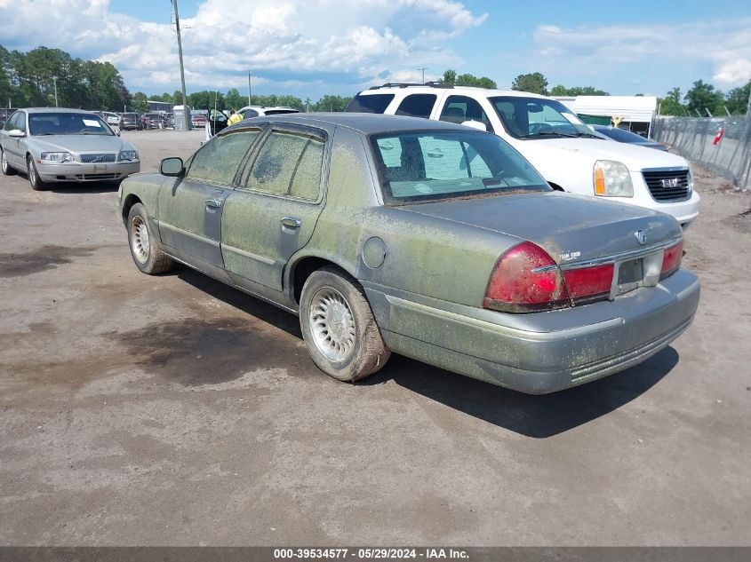
{"label": "rear windshield of the mossy green-grey sedan", "polygon": [[389,204],[550,190],[521,154],[488,133],[399,131],[371,143]]}

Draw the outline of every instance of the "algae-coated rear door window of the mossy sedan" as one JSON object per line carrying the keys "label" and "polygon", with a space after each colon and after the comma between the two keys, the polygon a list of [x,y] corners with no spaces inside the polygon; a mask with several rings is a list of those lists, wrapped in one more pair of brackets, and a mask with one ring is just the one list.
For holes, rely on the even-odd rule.
{"label": "algae-coated rear door window of the mossy sedan", "polygon": [[323,157],[322,139],[272,131],[242,185],[267,194],[315,201],[321,187]]}

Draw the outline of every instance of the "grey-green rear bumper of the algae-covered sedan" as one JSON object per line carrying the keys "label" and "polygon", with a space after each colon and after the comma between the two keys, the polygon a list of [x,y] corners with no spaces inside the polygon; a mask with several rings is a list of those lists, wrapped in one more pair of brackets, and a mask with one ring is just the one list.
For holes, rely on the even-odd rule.
{"label": "grey-green rear bumper of the algae-covered sedan", "polygon": [[543,394],[632,367],[689,327],[699,281],[679,270],[655,288],[561,311],[503,314],[364,283],[387,345],[436,367]]}

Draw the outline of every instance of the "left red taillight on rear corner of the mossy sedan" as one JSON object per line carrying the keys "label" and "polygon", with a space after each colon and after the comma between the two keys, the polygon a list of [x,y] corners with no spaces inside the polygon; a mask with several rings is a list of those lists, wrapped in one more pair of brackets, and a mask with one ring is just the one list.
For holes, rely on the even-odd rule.
{"label": "left red taillight on rear corner of the mossy sedan", "polygon": [[531,242],[522,242],[499,257],[483,301],[485,308],[507,313],[567,305],[561,270],[544,249]]}

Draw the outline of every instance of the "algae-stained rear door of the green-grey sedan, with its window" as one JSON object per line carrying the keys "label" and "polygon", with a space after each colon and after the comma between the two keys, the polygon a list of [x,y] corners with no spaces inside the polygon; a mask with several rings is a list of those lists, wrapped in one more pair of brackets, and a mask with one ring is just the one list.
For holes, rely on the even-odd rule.
{"label": "algae-stained rear door of the green-grey sedan, with its window", "polygon": [[284,266],[324,208],[327,140],[320,129],[275,124],[246,166],[222,217],[222,255],[238,286],[280,297]]}

